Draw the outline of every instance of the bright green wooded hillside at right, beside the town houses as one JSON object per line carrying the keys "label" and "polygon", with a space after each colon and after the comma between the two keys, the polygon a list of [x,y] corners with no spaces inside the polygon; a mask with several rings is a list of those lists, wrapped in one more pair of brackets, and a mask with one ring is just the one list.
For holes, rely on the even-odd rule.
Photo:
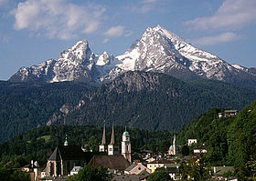
{"label": "bright green wooded hillside at right, beside the town houses", "polygon": [[209,165],[235,166],[238,176],[252,176],[256,168],[256,102],[241,109],[238,116],[219,118],[222,111],[211,109],[184,126],[179,144],[197,138],[197,146],[207,147]]}

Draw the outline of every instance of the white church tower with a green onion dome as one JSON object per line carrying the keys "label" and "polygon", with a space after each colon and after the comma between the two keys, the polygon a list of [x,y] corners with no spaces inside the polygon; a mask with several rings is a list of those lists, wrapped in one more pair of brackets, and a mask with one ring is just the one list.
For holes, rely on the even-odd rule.
{"label": "white church tower with a green onion dome", "polygon": [[123,132],[122,155],[130,163],[132,162],[130,135],[126,131],[126,127],[125,127],[125,131]]}

